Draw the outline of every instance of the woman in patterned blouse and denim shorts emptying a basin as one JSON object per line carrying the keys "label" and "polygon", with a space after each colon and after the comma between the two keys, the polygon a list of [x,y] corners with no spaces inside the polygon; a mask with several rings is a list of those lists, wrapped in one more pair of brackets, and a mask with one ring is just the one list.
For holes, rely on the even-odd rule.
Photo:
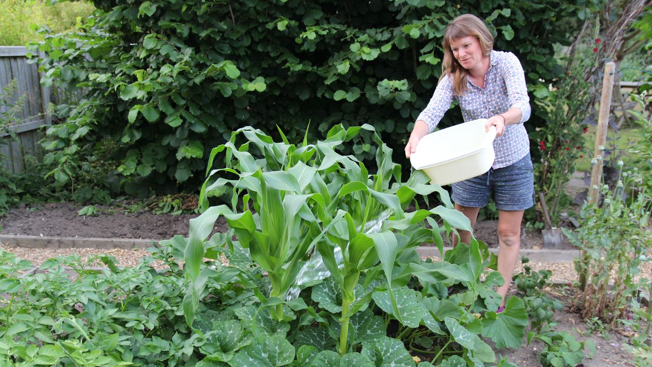
{"label": "woman in patterned blouse and denim shorts emptying a basin", "polygon": [[[496,127],[492,168],[481,176],[453,183],[452,200],[473,228],[480,208],[493,195],[498,209],[498,271],[505,279],[496,290],[503,296],[500,312],[505,309],[505,295],[518,260],[523,212],[534,204],[534,175],[523,125],[530,116],[523,67],[514,54],[493,47],[494,37],[476,16],[458,16],[448,25],[439,84],[419,114],[405,152],[406,157],[415,152],[419,140],[437,126],[453,99],[462,108],[464,121],[486,118],[487,130]],[[471,234],[460,231],[460,237],[468,244]]]}

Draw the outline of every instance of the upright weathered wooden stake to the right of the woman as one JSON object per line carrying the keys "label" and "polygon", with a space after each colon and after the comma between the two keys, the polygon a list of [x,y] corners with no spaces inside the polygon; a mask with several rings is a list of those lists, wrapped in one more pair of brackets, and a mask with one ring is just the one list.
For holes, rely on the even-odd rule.
{"label": "upright weathered wooden stake to the right of the woman", "polygon": [[[614,69],[615,64],[612,62],[604,65],[604,76],[602,76],[602,97],[600,97],[600,112],[598,115],[598,128],[595,133],[595,150],[593,157],[597,163],[591,169],[591,184],[589,185],[589,195],[587,200],[594,205],[600,200],[600,190],[602,189],[602,162],[604,162],[604,146],[607,142],[607,128],[609,126],[609,110],[611,108],[612,92],[614,91]],[[594,189],[596,187],[596,189]],[[580,253],[580,262],[585,264],[587,261],[586,251]],[[579,268],[580,290],[586,288],[586,269],[582,266]]]}

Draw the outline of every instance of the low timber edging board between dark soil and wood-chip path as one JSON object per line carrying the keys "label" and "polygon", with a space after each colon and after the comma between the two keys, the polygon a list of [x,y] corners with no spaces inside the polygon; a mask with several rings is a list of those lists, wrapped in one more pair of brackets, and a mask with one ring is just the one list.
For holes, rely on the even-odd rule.
{"label": "low timber edging board between dark soil and wood-chip path", "polygon": [[[89,237],[48,237],[48,236],[14,236],[0,234],[0,244],[12,247],[28,248],[93,248],[93,249],[146,249],[160,240],[138,238],[89,238]],[[445,251],[451,247],[444,247]],[[498,249],[489,249],[497,253]],[[441,257],[437,247],[420,246],[417,252],[421,256]],[[580,254],[578,250],[563,249],[521,249],[520,256],[527,257],[534,263],[572,263]]]}

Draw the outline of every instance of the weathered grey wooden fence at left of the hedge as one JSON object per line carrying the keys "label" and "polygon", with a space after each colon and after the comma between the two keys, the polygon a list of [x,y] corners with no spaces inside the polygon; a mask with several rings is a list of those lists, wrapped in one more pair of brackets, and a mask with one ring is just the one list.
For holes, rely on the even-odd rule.
{"label": "weathered grey wooden fence at left of the hedge", "polygon": [[[27,155],[42,157],[41,127],[52,124],[47,114],[52,92],[41,86],[37,64],[28,64],[26,55],[25,47],[0,46],[0,93],[12,82],[15,86],[13,95],[4,96],[7,106],[0,104],[0,164],[12,173],[25,170]],[[3,126],[1,118],[10,110],[16,121]]]}

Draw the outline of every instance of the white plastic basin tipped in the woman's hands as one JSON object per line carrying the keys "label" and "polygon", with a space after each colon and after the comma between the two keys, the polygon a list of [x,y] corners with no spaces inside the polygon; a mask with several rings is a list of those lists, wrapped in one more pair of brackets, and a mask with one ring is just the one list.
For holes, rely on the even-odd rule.
{"label": "white plastic basin tipped in the woman's hands", "polygon": [[486,119],[460,123],[430,133],[410,156],[412,167],[423,170],[430,183],[448,185],[479,176],[494,164],[496,127],[484,131]]}

